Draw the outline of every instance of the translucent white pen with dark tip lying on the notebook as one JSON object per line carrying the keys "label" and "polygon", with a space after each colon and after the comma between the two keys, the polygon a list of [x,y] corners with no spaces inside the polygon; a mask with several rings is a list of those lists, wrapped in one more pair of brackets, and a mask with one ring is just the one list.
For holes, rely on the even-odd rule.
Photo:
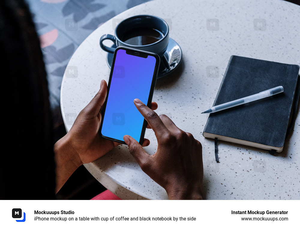
{"label": "translucent white pen with dark tip lying on the notebook", "polygon": [[214,113],[214,112],[217,112],[217,111],[220,111],[223,109],[228,109],[228,108],[240,105],[240,104],[245,104],[245,103],[248,103],[251,101],[256,101],[256,100],[259,100],[259,99],[262,99],[265,97],[269,97],[269,96],[272,96],[272,95],[275,95],[275,94],[281,93],[281,92],[283,92],[283,87],[277,86],[275,88],[267,89],[265,91],[262,91],[262,92],[259,92],[259,93],[256,93],[256,94],[253,94],[253,95],[250,95],[247,97],[243,97],[240,99],[236,99],[234,101],[229,101],[229,102],[226,102],[223,104],[213,106],[207,110],[204,110],[202,113]]}

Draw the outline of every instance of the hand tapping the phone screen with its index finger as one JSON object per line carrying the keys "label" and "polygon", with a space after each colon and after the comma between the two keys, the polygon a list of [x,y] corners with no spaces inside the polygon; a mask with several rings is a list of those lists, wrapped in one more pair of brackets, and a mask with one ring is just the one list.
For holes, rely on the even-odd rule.
{"label": "hand tapping the phone screen with its index finger", "polygon": [[134,104],[155,132],[157,151],[149,155],[131,136],[124,141],[142,170],[166,189],[169,199],[202,199],[202,146],[166,115],[158,116],[139,99]]}

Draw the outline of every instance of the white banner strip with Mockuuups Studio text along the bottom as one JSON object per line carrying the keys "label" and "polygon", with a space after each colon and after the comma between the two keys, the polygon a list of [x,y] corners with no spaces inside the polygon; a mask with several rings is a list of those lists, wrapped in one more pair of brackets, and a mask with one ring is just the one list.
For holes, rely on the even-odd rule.
{"label": "white banner strip with Mockuuups Studio text along the bottom", "polygon": [[300,201],[0,201],[1,229],[286,229]]}

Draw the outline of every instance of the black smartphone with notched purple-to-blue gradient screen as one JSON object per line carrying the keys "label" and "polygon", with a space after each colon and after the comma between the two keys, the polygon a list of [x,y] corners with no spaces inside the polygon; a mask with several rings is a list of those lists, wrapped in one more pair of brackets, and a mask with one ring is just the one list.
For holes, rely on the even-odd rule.
{"label": "black smartphone with notched purple-to-blue gradient screen", "polygon": [[130,135],[143,143],[147,122],[133,101],[138,98],[151,106],[159,62],[155,53],[116,48],[102,110],[99,132],[103,138],[126,144],[123,136]]}

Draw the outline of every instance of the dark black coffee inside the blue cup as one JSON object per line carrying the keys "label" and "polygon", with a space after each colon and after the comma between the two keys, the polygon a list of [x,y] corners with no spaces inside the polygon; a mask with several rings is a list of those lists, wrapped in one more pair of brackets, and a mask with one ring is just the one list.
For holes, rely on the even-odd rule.
{"label": "dark black coffee inside the blue cup", "polygon": [[156,29],[139,27],[126,32],[121,40],[130,45],[143,46],[155,43],[161,40],[163,36],[164,35]]}

